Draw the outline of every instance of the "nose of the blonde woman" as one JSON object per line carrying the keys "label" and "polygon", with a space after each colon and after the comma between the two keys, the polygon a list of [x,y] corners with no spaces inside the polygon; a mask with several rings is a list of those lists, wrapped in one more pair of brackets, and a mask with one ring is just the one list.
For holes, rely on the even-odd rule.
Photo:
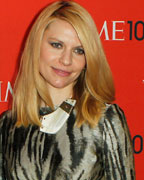
{"label": "nose of the blonde woman", "polygon": [[60,63],[64,66],[69,66],[72,64],[72,52],[70,50],[64,50],[60,57]]}

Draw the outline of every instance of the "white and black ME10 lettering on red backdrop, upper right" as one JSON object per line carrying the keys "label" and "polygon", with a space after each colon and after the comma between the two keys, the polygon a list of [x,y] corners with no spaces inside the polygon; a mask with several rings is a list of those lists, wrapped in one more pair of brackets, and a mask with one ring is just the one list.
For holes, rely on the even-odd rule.
{"label": "white and black ME10 lettering on red backdrop, upper right", "polygon": [[144,21],[104,21],[99,35],[106,41],[142,41]]}

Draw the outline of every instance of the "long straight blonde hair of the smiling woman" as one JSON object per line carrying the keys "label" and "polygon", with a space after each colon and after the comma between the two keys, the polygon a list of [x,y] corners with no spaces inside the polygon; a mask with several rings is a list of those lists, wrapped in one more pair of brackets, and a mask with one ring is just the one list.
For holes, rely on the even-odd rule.
{"label": "long straight blonde hair of the smiling woman", "polygon": [[77,126],[88,123],[94,127],[105,108],[114,100],[112,73],[107,63],[96,25],[90,14],[73,1],[56,1],[47,6],[35,21],[21,57],[21,65],[14,87],[13,117],[17,126],[41,126],[41,101],[53,107],[45,80],[39,73],[40,47],[43,34],[55,19],[69,22],[76,30],[85,51],[86,69],[74,86],[77,100]]}

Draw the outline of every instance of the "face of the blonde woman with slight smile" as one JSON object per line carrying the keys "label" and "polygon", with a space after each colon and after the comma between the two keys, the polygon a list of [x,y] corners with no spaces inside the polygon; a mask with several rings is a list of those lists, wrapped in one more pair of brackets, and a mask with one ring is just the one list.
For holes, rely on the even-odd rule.
{"label": "face of the blonde woman with slight smile", "polygon": [[85,63],[76,31],[68,22],[56,19],[44,33],[40,52],[40,74],[48,87],[73,88]]}

